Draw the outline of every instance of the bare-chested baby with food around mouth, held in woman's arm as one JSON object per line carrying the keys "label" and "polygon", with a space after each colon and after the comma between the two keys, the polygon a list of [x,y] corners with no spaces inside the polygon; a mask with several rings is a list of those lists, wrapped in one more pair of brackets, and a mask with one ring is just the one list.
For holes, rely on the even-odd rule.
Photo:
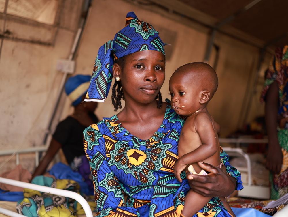
{"label": "bare-chested baby with food around mouth, held in woman's arm", "polygon": [[[170,78],[169,90],[172,108],[178,115],[187,117],[178,143],[179,160],[174,165],[175,177],[180,182],[182,182],[180,174],[183,170],[186,171],[188,166],[190,173],[207,175],[197,162],[211,164],[226,172],[226,168],[220,160],[217,136],[217,131],[219,131],[217,129],[220,127],[206,108],[217,87],[216,72],[211,66],[202,62],[180,66]],[[193,216],[210,199],[190,189],[185,197],[182,215]],[[220,199],[228,212],[234,215],[225,198]]]}

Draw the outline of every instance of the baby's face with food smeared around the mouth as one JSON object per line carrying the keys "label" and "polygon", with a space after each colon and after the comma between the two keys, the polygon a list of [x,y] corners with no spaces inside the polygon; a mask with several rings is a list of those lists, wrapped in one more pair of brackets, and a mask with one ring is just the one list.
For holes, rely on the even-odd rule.
{"label": "baby's face with food smeared around the mouth", "polygon": [[189,116],[199,109],[199,85],[189,80],[181,74],[173,74],[169,81],[171,105],[178,115]]}

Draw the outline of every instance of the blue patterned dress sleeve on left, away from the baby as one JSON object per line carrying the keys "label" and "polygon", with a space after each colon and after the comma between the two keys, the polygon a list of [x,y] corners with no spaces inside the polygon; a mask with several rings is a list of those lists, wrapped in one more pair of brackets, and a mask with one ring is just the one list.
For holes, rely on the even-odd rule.
{"label": "blue patterned dress sleeve on left, away from the baby", "polygon": [[137,209],[124,206],[122,183],[107,162],[105,139],[100,132],[101,122],[98,126],[93,124],[83,132],[84,150],[89,160],[95,189],[96,216],[137,217],[139,215]]}

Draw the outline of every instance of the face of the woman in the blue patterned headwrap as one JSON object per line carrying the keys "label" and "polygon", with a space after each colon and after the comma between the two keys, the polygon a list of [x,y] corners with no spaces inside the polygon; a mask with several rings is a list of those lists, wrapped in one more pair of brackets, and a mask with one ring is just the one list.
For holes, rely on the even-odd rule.
{"label": "face of the woman in the blue patterned headwrap", "polygon": [[155,50],[132,53],[125,57],[118,73],[126,102],[128,98],[144,104],[153,102],[165,80],[165,56]]}

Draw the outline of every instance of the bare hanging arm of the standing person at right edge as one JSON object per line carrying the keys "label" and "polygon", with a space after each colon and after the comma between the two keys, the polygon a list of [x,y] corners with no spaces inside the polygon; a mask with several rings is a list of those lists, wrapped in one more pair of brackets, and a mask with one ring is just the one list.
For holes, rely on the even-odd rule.
{"label": "bare hanging arm of the standing person at right edge", "polygon": [[272,173],[280,173],[283,154],[278,142],[277,117],[278,117],[279,92],[277,82],[274,81],[266,94],[265,102],[265,121],[268,133],[268,154],[266,167]]}

